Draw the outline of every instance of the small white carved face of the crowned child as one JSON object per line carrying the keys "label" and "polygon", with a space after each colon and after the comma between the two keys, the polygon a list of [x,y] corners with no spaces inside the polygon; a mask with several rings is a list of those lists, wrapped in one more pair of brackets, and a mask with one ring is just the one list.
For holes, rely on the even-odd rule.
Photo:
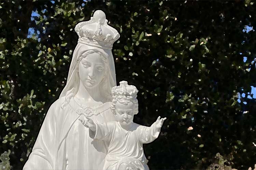
{"label": "small white carved face of the crowned child", "polygon": [[121,104],[119,102],[116,103],[116,118],[120,122],[120,124],[128,125],[133,120],[133,103],[129,102],[127,105]]}

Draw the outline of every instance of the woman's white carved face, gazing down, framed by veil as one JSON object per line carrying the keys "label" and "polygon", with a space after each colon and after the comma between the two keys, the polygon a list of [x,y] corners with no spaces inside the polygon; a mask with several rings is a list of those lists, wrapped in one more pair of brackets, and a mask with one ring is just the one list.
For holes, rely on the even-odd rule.
{"label": "woman's white carved face, gazing down, framed by veil", "polygon": [[86,88],[93,88],[100,84],[105,75],[105,65],[98,53],[88,54],[79,63],[79,77]]}

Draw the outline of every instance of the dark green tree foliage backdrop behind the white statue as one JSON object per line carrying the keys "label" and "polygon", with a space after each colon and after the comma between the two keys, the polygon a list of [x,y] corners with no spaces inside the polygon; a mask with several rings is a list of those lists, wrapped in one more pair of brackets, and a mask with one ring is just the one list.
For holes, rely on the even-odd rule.
{"label": "dark green tree foliage backdrop behind the white statue", "polygon": [[139,89],[134,121],[150,125],[167,117],[160,137],[144,147],[150,168],[207,169],[216,154],[232,158],[223,167],[253,167],[250,0],[0,2],[0,153],[10,150],[10,165],[25,164],[65,86],[78,38],[74,26],[97,9],[121,35],[113,47],[117,82]]}

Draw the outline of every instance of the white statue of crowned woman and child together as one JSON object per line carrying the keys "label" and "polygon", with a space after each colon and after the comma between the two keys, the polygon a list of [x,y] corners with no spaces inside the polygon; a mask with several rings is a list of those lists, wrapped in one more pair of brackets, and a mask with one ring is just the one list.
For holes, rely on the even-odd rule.
{"label": "white statue of crowned woman and child together", "polygon": [[76,24],[75,32],[67,84],[48,109],[23,170],[148,170],[143,143],[158,137],[166,118],[151,127],[132,122],[138,90],[125,81],[116,86],[111,50],[120,35],[104,12]]}

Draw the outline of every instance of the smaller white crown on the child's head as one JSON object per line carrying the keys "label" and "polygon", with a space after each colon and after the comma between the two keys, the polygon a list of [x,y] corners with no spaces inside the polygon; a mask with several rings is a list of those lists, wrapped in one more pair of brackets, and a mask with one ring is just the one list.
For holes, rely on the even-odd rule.
{"label": "smaller white crown on the child's head", "polygon": [[138,89],[133,85],[128,85],[127,81],[119,82],[119,86],[112,88],[113,96],[132,96],[137,97]]}

